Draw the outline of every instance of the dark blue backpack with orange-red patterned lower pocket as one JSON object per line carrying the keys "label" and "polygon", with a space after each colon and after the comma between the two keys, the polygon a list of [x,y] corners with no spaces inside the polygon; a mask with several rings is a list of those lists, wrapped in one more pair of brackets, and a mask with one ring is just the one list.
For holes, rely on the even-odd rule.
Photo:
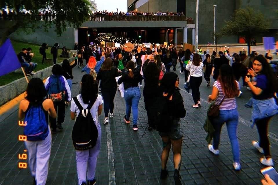
{"label": "dark blue backpack with orange-red patterned lower pocket", "polygon": [[62,76],[51,75],[49,78],[49,89],[47,92],[47,97],[51,99],[53,102],[63,101],[65,97],[65,91],[63,88],[63,84],[61,83]]}

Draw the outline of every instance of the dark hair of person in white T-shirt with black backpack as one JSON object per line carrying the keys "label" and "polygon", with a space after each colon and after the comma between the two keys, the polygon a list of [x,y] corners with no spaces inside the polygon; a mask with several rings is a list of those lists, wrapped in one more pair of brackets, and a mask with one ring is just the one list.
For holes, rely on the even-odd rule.
{"label": "dark hair of person in white T-shirt with black backpack", "polygon": [[94,81],[94,77],[85,74],[81,80],[81,97],[84,103],[89,104],[89,101],[94,99],[98,93],[98,84]]}

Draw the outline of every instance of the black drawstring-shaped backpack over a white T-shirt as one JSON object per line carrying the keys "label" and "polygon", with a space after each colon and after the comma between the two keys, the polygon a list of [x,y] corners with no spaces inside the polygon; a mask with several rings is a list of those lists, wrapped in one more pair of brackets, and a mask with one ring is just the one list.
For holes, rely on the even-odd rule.
{"label": "black drawstring-shaped backpack over a white T-shirt", "polygon": [[84,109],[79,103],[77,97],[73,100],[76,103],[80,113],[78,114],[73,129],[72,129],[72,142],[76,150],[87,150],[96,145],[98,139],[98,129],[90,113],[96,97],[90,101],[88,107]]}

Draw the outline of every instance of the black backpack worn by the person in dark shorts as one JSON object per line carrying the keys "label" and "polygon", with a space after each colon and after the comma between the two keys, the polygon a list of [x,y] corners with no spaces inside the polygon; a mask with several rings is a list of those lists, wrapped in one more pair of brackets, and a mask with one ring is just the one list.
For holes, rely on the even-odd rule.
{"label": "black backpack worn by the person in dark shorts", "polygon": [[167,97],[157,97],[155,103],[150,107],[150,126],[159,132],[168,132],[173,123],[173,115],[169,110]]}

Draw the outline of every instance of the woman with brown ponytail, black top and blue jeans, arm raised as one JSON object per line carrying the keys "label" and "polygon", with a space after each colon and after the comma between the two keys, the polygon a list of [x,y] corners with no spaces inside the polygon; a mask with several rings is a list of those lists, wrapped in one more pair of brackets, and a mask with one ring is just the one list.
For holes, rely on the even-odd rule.
{"label": "woman with brown ponytail, black top and blue jeans, arm raised", "polygon": [[124,83],[125,89],[125,104],[126,104],[126,115],[124,120],[127,124],[130,123],[129,117],[132,108],[133,118],[133,130],[138,130],[137,119],[138,119],[138,103],[141,97],[140,88],[138,83],[143,79],[140,74],[141,71],[141,59],[138,60],[135,68],[135,63],[130,60],[127,62],[127,70],[122,73],[122,77],[118,79],[118,84]]}

